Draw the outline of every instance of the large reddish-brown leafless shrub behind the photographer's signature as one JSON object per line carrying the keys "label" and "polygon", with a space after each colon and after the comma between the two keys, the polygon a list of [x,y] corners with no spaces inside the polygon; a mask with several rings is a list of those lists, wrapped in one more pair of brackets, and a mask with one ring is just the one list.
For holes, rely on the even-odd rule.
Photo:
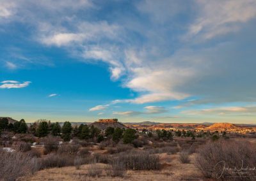
{"label": "large reddish-brown leafless shrub behind the photographer's signature", "polygon": [[[247,141],[221,140],[207,143],[198,149],[196,166],[207,178],[223,180],[255,180],[256,148]],[[230,168],[223,170],[223,167]],[[235,168],[248,168],[237,171]]]}

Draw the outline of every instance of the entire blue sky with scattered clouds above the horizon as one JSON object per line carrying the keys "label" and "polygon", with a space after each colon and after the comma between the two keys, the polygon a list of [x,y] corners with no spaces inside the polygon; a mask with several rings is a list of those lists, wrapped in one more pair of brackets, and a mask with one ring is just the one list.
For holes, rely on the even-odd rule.
{"label": "entire blue sky with scattered clouds above the horizon", "polygon": [[254,0],[0,4],[0,116],[256,122]]}

